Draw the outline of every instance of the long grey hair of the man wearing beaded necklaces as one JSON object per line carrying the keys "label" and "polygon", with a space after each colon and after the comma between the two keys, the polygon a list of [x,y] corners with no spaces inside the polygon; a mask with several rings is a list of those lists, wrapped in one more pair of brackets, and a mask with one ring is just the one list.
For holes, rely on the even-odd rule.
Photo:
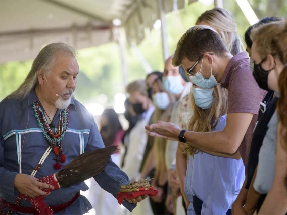
{"label": "long grey hair of the man wearing beaded necklaces", "polygon": [[38,71],[44,70],[45,75],[49,76],[52,72],[53,66],[59,62],[65,55],[76,57],[75,49],[65,43],[52,43],[45,46],[33,61],[31,70],[27,75],[25,81],[20,87],[12,92],[8,97],[15,97],[24,99],[29,92],[38,84]]}

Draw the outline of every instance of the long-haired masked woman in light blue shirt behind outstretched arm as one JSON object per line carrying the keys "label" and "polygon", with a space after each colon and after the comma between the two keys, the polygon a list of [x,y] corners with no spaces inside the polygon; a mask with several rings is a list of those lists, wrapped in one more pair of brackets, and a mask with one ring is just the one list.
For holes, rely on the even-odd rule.
{"label": "long-haired masked woman in light blue shirt behind outstretched arm", "polygon": [[[192,89],[193,116],[188,130],[221,131],[226,125],[227,91],[220,86]],[[191,202],[187,214],[231,214],[245,179],[242,159],[214,156],[184,145],[188,155],[185,193]]]}

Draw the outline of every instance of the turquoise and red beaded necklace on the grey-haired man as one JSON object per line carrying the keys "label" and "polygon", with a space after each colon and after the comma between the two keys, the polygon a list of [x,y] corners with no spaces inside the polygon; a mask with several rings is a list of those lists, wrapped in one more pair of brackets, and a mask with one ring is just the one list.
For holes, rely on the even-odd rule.
{"label": "turquoise and red beaded necklace on the grey-haired man", "polygon": [[[63,147],[62,147],[62,140],[64,138],[65,132],[69,125],[70,106],[68,106],[68,108],[66,109],[62,109],[62,111],[60,112],[59,125],[55,133],[51,130],[38,101],[33,103],[33,110],[37,118],[38,125],[40,129],[43,131],[43,135],[45,139],[47,140],[48,144],[52,148],[53,153],[56,155],[56,158],[54,158],[54,160],[56,160],[56,163],[54,164],[54,168],[59,170],[61,169],[61,166],[62,166],[59,163],[59,161],[61,163],[66,162],[66,156],[63,152]],[[39,170],[40,167],[41,165],[38,164],[35,167],[35,170]]]}

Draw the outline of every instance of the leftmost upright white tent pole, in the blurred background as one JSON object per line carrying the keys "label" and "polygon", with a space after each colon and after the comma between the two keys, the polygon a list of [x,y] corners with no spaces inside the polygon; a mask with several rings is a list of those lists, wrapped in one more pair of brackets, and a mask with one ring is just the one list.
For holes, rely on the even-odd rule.
{"label": "leftmost upright white tent pole, in the blurred background", "polygon": [[121,64],[122,64],[122,77],[123,77],[123,87],[124,90],[127,86],[127,62],[126,62],[126,47],[124,42],[124,32],[122,28],[116,28],[117,41],[120,49]]}

